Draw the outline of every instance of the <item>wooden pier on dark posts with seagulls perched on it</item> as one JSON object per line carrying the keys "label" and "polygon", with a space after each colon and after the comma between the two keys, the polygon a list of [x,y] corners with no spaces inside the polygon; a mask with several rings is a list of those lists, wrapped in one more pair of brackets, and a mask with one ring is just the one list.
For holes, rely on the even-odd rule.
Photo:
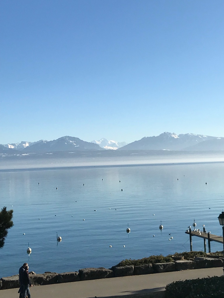
{"label": "wooden pier on dark posts with seagulls perched on it", "polygon": [[191,231],[191,229],[189,229],[185,232],[185,234],[190,235],[190,251],[191,252],[192,252],[192,238],[191,238],[192,236],[197,236],[197,237],[204,239],[204,251],[205,252],[206,252],[206,240],[208,240],[208,252],[211,252],[211,246],[210,246],[211,241],[223,243],[222,236],[217,236],[217,235],[213,235],[211,233],[207,233],[207,232],[205,232],[205,228],[203,228],[203,232],[202,231]]}

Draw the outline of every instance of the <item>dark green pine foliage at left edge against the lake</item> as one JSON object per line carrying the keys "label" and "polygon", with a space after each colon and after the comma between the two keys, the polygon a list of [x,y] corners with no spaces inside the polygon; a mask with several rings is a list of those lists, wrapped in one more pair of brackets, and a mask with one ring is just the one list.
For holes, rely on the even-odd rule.
{"label": "dark green pine foliage at left edge against the lake", "polygon": [[13,209],[7,211],[6,207],[3,207],[0,211],[0,248],[3,248],[5,244],[8,229],[13,226],[12,218]]}

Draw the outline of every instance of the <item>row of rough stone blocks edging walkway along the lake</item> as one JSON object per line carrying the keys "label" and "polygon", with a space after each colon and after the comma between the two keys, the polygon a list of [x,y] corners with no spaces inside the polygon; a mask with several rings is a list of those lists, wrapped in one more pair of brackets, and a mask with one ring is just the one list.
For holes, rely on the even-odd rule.
{"label": "row of rough stone blocks edging walkway along the lake", "polygon": [[[113,266],[110,269],[84,268],[79,272],[45,272],[43,274],[29,275],[33,285],[51,285],[55,283],[70,283],[80,280],[94,280],[109,277],[121,277],[128,275],[153,274],[160,272],[171,272],[188,269],[223,267],[222,258],[195,257],[194,261],[177,260],[170,263],[146,264],[141,266]],[[2,277],[0,280],[0,289],[19,288],[19,274],[10,277]]]}

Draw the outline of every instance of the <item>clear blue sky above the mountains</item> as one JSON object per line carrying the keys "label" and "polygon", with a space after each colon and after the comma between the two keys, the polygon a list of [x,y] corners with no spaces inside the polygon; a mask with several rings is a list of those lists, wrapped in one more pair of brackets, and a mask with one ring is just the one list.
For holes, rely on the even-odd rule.
{"label": "clear blue sky above the mountains", "polygon": [[223,0],[1,0],[0,143],[224,136]]}

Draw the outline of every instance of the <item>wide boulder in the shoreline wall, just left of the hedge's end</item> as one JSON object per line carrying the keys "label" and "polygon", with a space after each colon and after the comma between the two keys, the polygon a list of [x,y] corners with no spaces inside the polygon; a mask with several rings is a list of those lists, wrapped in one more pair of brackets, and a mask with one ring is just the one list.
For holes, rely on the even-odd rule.
{"label": "wide boulder in the shoreline wall, just left of the hedge's end", "polygon": [[103,267],[79,269],[80,280],[94,280],[113,277],[113,271]]}

